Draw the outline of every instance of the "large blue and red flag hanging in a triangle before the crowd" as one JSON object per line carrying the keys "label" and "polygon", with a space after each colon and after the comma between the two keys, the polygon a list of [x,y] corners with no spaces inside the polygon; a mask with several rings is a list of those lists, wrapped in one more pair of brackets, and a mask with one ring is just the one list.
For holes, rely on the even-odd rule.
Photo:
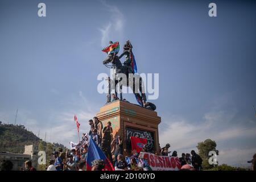
{"label": "large blue and red flag hanging in a triangle before the crowd", "polygon": [[91,137],[90,138],[90,144],[89,144],[89,147],[88,147],[88,153],[87,153],[87,157],[86,157],[87,171],[92,170],[92,162],[95,159],[104,160],[104,163],[105,163],[104,171],[115,171],[112,163],[109,161],[109,159],[102,152],[100,147],[97,146],[97,144],[94,142],[94,140]]}

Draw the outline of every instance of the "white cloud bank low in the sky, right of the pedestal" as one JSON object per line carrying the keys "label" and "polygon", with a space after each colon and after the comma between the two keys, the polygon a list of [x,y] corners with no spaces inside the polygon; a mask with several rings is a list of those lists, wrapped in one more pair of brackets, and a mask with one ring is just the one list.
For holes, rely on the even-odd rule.
{"label": "white cloud bank low in the sky, right of the pedestal", "polygon": [[[227,149],[225,146],[218,146],[218,143],[229,140],[236,140],[245,137],[256,137],[256,126],[246,127],[241,123],[232,123],[236,113],[227,113],[225,111],[212,111],[204,114],[201,122],[190,122],[182,117],[171,116],[164,124],[167,129],[159,133],[160,144],[164,146],[171,143],[171,150],[181,152],[190,152],[196,150],[198,142],[205,139],[213,139],[217,143],[217,149],[220,151],[219,162],[228,163],[230,165],[241,164],[246,166],[249,160],[256,152],[255,148],[244,149],[237,142],[233,149]],[[167,123],[170,123],[169,125]],[[232,123],[230,125],[229,123]],[[237,155],[242,157],[237,157]],[[249,158],[249,159],[248,159]]]}

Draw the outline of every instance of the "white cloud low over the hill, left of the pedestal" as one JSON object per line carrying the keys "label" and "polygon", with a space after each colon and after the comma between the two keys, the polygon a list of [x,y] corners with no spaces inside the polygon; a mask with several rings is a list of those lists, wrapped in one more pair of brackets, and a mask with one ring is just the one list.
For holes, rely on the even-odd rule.
{"label": "white cloud low over the hill, left of the pedestal", "polygon": [[[39,138],[44,140],[46,134],[48,142],[62,143],[68,147],[70,141],[77,142],[78,140],[74,115],[76,114],[79,119],[81,136],[82,133],[88,133],[88,120],[96,115],[99,106],[95,106],[94,102],[89,101],[81,91],[77,92],[72,101],[67,102],[70,107],[49,111],[44,119],[29,110],[19,109],[17,124],[24,125],[35,135],[38,135],[40,130]],[[15,117],[15,111],[13,113],[1,112],[0,121],[7,123],[12,115]]]}

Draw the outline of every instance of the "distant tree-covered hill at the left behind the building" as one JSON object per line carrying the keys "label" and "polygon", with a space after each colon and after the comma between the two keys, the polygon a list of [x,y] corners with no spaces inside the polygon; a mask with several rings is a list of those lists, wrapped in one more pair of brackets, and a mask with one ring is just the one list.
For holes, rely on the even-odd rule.
{"label": "distant tree-covered hill at the left behind the building", "polygon": [[[25,126],[0,122],[0,152],[23,153],[25,145],[34,144],[38,146],[39,143],[43,143],[46,146],[46,142],[36,137],[31,131],[28,131]],[[53,143],[53,146],[54,148],[62,147],[65,149],[63,144]]]}

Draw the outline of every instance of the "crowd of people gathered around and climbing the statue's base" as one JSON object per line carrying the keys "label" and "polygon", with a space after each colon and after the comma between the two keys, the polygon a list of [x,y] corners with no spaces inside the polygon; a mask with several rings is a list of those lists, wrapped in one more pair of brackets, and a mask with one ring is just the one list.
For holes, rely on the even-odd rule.
{"label": "crowd of people gathered around and climbing the statue's base", "polygon": [[[112,136],[113,129],[112,123],[107,122],[106,126],[98,120],[97,117],[89,120],[90,131],[89,136],[94,140],[98,147],[104,152],[106,158],[109,159],[110,163],[113,164],[115,171],[147,171],[150,170],[150,166],[146,159],[140,158],[140,153],[137,150],[128,151],[123,148],[123,141],[119,135]],[[85,134],[83,134],[84,136]],[[62,148],[53,152],[54,159],[49,160],[49,166],[47,171],[84,171],[86,170],[86,156],[88,152],[88,145],[81,141],[72,150],[67,150],[63,152]],[[114,146],[114,151],[112,151],[111,146]],[[173,151],[170,154],[170,144],[166,144],[165,147],[161,148],[159,151],[154,152],[155,155],[162,156],[175,156],[177,157],[177,152]],[[148,145],[144,144],[142,152],[152,152],[149,151]],[[195,151],[191,151],[191,154],[181,154],[180,164],[181,169],[194,169],[201,170],[202,159]],[[101,159],[96,159],[90,164],[92,170],[102,170],[104,169],[104,161]]]}

